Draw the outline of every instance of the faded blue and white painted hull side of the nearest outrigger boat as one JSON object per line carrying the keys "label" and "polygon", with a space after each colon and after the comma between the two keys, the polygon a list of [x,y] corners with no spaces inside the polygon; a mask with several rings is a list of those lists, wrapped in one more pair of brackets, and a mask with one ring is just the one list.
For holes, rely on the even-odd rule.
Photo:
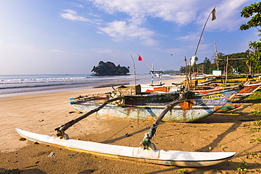
{"label": "faded blue and white painted hull side of the nearest outrigger boat", "polygon": [[[174,106],[174,108],[171,108],[162,121],[191,123],[201,120],[202,118],[211,116],[215,111],[221,108],[221,106],[226,104],[231,94],[235,92],[238,91],[222,91],[215,94],[195,95],[190,97],[191,99],[182,101],[180,104]],[[158,101],[156,104],[152,101],[150,104],[150,101],[143,102],[143,100],[145,99],[142,99],[142,104],[140,105],[138,101],[135,101],[135,104],[133,105],[125,104],[116,106],[114,104],[107,104],[107,106],[104,106],[104,108],[97,111],[96,114],[99,116],[114,116],[136,120],[156,120],[157,116],[159,116],[169,104],[169,102],[163,101]],[[71,105],[77,111],[87,113],[102,105],[102,103],[80,100],[71,101]]]}

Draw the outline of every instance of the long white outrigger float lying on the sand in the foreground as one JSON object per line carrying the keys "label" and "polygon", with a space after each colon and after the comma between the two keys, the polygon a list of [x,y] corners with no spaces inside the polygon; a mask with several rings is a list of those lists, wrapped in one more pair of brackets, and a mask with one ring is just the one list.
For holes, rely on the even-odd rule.
{"label": "long white outrigger float lying on the sand in the foreground", "polygon": [[198,152],[198,151],[171,151],[155,149],[144,150],[138,147],[124,147],[98,142],[85,142],[76,139],[61,139],[49,135],[40,135],[16,128],[20,136],[32,142],[52,144],[67,149],[84,151],[99,156],[112,157],[145,163],[162,164],[166,166],[203,167],[212,166],[231,159],[235,152]]}

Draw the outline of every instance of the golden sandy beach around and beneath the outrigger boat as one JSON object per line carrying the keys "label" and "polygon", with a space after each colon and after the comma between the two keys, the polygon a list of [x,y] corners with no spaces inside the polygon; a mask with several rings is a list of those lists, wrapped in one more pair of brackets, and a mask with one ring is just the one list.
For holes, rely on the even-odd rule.
{"label": "golden sandy beach around and beneath the outrigger boat", "polygon": [[[169,81],[168,81],[169,82]],[[246,161],[248,173],[261,173],[259,116],[249,111],[261,104],[251,100],[229,113],[215,113],[198,123],[165,123],[152,142],[157,149],[181,151],[234,151],[233,159],[205,168],[181,168],[104,158],[79,151],[22,141],[15,128],[44,135],[56,135],[54,128],[72,120],[75,112],[68,102],[80,94],[111,92],[111,87],[30,94],[0,98],[0,173],[241,173]],[[138,147],[150,121],[99,117],[92,114],[66,132],[73,139]],[[130,136],[126,136],[126,134]],[[47,157],[54,153],[54,157]]]}

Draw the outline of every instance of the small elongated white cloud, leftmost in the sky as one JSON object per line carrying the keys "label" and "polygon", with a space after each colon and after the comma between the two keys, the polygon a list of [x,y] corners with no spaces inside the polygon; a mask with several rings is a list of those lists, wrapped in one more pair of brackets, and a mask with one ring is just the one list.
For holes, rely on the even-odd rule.
{"label": "small elongated white cloud, leftmost in the sky", "polygon": [[101,24],[102,20],[97,20],[97,19],[90,19],[90,18],[86,18],[85,16],[80,16],[77,15],[77,12],[67,9],[64,10],[65,13],[61,13],[61,17],[68,19],[68,20],[73,20],[73,21],[81,21],[81,22],[85,22],[85,23],[95,23],[97,25]]}

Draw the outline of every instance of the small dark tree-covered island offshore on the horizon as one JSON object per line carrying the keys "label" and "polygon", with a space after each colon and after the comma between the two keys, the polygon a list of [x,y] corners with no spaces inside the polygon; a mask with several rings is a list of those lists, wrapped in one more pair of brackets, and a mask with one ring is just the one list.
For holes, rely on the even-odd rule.
{"label": "small dark tree-covered island offshore on the horizon", "polygon": [[92,72],[94,72],[95,75],[127,75],[130,73],[129,68],[129,66],[128,68],[120,65],[115,66],[114,63],[109,61],[99,61],[98,66],[93,66]]}

